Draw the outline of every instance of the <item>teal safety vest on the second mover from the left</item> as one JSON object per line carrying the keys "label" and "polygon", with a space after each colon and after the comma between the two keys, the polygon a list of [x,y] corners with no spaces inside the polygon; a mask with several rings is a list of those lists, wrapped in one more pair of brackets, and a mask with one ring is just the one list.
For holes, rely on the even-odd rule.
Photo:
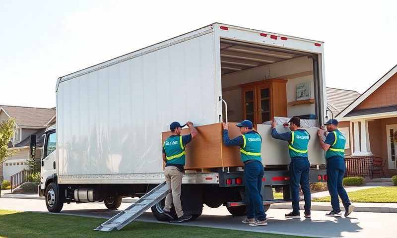
{"label": "teal safety vest on the second mover from the left", "polygon": [[248,160],[262,161],[261,147],[262,137],[258,132],[246,133],[243,135],[244,145],[240,148],[241,160],[244,162]]}

